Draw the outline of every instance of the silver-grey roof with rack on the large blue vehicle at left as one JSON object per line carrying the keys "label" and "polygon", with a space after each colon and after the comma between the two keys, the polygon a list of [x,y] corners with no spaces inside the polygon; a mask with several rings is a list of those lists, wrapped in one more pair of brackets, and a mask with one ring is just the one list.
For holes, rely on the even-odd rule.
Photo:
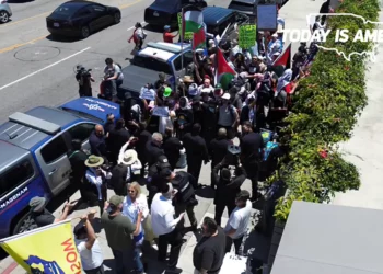
{"label": "silver-grey roof with rack on the large blue vehicle at left", "polygon": [[[12,114],[9,119],[9,122],[0,125],[0,141],[7,141],[25,150],[32,149],[49,136],[66,128],[68,125],[81,121],[70,113],[46,106],[32,109],[25,112],[25,114]],[[30,123],[38,122],[39,125],[33,126],[27,123],[23,124],[20,123],[21,119],[25,119]],[[57,130],[55,130],[55,126]],[[54,132],[49,133],[49,130]]]}

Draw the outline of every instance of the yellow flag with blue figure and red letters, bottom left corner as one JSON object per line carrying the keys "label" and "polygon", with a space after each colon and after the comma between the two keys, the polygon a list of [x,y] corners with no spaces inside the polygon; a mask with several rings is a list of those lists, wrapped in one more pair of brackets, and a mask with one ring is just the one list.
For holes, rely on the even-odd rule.
{"label": "yellow flag with blue figure and red letters, bottom left corner", "polygon": [[0,246],[28,273],[81,274],[70,220],[2,239]]}

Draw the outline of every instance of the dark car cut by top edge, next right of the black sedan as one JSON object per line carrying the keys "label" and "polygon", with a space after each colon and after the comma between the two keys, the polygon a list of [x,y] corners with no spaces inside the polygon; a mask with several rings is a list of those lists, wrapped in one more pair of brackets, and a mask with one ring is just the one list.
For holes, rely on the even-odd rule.
{"label": "dark car cut by top edge, next right of the black sedan", "polygon": [[200,9],[208,4],[202,0],[155,0],[144,10],[144,22],[151,25],[172,27],[178,26],[178,12],[186,5],[196,5]]}

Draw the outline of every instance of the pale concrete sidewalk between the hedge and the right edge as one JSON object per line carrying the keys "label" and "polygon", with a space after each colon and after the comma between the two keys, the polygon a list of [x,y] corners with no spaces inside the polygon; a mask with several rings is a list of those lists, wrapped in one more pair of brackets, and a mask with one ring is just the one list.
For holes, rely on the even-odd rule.
{"label": "pale concrete sidewalk between the hedge and the right edge", "polygon": [[[383,21],[383,12],[380,13],[379,21]],[[383,26],[378,25],[378,27],[382,28]],[[375,58],[375,62],[367,62],[368,106],[359,117],[351,139],[341,144],[345,159],[353,163],[360,172],[361,186],[359,191],[336,195],[333,201],[335,205],[383,209],[382,44],[378,47]]]}

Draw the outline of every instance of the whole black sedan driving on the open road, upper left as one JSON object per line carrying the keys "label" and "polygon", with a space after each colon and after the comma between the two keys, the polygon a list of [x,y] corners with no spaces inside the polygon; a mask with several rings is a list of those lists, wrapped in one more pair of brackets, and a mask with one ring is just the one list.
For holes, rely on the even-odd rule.
{"label": "whole black sedan driving on the open road, upper left", "polygon": [[89,1],[69,1],[47,16],[47,28],[53,35],[86,38],[91,33],[118,24],[118,8]]}

